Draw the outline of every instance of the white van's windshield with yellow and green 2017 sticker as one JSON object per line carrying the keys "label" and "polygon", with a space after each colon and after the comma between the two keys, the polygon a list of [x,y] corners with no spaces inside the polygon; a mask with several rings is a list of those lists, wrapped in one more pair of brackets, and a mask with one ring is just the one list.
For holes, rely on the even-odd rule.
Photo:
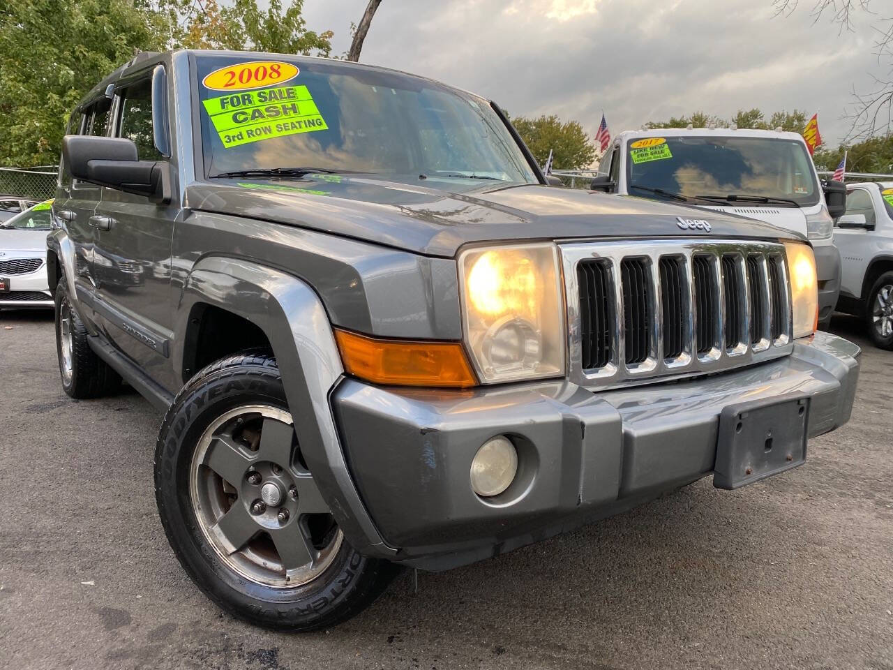
{"label": "white van's windshield with yellow and green 2017 sticker", "polygon": [[[794,201],[788,206],[819,202],[812,159],[803,143],[793,139],[655,135],[630,140],[627,151],[627,180],[632,195],[655,199],[666,199],[665,193],[685,197],[735,195]],[[664,194],[650,189],[660,189]],[[748,206],[754,204],[785,205],[747,201]]]}

